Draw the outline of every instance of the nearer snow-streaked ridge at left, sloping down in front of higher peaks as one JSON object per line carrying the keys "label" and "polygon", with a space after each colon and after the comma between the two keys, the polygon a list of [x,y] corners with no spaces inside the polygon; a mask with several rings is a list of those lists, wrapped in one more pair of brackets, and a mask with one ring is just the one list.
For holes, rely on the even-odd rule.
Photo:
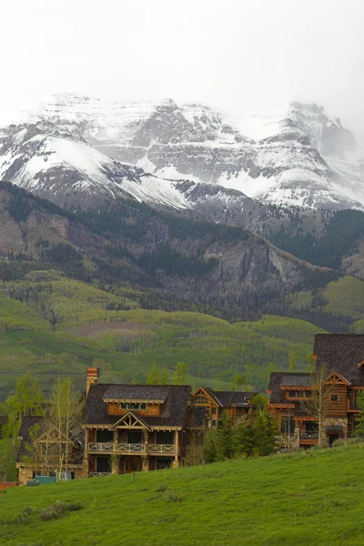
{"label": "nearer snow-streaked ridge at left, sloping down in front of higher peaks", "polygon": [[[41,120],[0,129],[0,179],[61,206],[90,207],[127,197],[162,207],[221,216],[228,206],[244,216],[254,202],[217,185],[172,180],[121,163],[91,147],[65,126]],[[208,206],[207,206],[208,197]]]}

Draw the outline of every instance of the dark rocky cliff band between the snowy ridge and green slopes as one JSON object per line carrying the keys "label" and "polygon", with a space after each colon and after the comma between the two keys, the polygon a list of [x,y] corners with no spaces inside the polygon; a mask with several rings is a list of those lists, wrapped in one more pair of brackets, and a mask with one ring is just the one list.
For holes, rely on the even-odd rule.
{"label": "dark rocky cliff band between the snowy ridge and green slopes", "polygon": [[[122,222],[120,230],[109,231],[109,227],[97,222],[97,215],[90,221],[87,215],[75,217],[52,207],[22,190],[15,191],[11,185],[0,184],[0,274],[5,271],[2,264],[8,262],[11,267],[21,264],[25,274],[28,267],[59,268],[66,275],[101,278],[105,282],[107,278],[120,282],[134,275],[136,284],[143,286],[146,282],[179,298],[249,316],[263,303],[269,308],[272,299],[294,291],[310,271],[324,273],[323,268],[299,262],[262,238],[237,228],[223,233],[191,221],[184,225],[182,233],[173,217],[128,204],[113,210]],[[100,214],[105,219],[105,211]],[[161,258],[152,270],[140,262],[141,257],[158,252],[161,245],[178,255]],[[67,262],[71,248],[77,253],[76,269],[74,258]],[[16,261],[19,253],[26,255],[25,261]],[[178,256],[192,260],[192,270],[195,264],[198,267],[210,258],[215,261],[206,273],[184,274],[183,268],[173,273],[167,266]],[[146,272],[149,278],[143,277]],[[20,273],[15,275],[19,278]],[[151,279],[157,284],[150,284]]]}

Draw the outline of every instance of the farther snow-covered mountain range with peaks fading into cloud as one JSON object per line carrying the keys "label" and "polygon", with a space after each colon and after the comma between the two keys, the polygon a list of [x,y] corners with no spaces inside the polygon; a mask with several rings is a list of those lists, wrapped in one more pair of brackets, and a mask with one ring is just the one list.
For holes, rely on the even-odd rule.
{"label": "farther snow-covered mountain range with peaks fading into cloud", "polygon": [[34,116],[159,177],[213,183],[268,203],[364,207],[355,138],[317,105],[291,103],[240,123],[200,104],[60,95]]}

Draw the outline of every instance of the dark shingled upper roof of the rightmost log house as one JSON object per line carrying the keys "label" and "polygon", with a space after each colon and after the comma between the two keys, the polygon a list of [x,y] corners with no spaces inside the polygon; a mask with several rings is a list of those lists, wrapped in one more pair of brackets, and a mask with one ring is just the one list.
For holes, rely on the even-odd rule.
{"label": "dark shingled upper roof of the rightmost log house", "polygon": [[364,334],[317,334],[313,348],[317,368],[324,367],[347,379],[352,385],[364,385]]}

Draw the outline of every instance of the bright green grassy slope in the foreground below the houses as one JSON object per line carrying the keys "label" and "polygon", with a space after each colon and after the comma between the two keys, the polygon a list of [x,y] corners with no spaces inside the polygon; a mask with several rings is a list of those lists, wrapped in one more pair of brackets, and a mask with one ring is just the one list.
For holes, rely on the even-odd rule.
{"label": "bright green grassy slope in the foreground below the houses", "polygon": [[[364,541],[364,446],[7,490],[1,544],[38,546],[338,545]],[[168,501],[163,485],[180,501]],[[0,493],[1,494],[1,493]],[[56,521],[25,508],[82,501]],[[36,541],[36,542],[35,542]]]}

